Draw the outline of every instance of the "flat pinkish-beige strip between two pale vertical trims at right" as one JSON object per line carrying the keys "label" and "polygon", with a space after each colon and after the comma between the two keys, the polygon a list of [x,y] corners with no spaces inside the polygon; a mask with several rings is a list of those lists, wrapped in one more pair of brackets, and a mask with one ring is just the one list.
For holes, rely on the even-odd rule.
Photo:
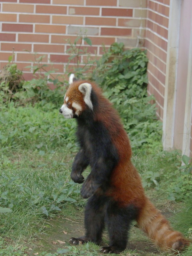
{"label": "flat pinkish-beige strip between two pale vertical trims at right", "polygon": [[178,55],[178,72],[176,82],[175,122],[174,122],[174,147],[182,149],[183,129],[185,118],[185,102],[188,78],[188,60],[190,49],[192,1],[181,2],[180,40]]}

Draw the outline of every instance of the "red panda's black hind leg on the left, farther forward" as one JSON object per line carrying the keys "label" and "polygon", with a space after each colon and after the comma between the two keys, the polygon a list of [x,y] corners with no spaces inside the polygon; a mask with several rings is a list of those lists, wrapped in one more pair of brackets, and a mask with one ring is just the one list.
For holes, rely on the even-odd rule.
{"label": "red panda's black hind leg on the left, farther forward", "polygon": [[69,240],[71,244],[84,244],[88,241],[94,242],[95,244],[101,243],[107,200],[108,198],[106,196],[98,195],[93,195],[89,198],[85,207],[85,236],[71,238]]}

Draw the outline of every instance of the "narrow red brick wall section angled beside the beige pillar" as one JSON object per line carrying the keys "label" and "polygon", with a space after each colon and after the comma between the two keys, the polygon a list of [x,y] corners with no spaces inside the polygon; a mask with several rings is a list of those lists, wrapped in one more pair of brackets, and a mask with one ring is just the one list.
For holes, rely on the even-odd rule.
{"label": "narrow red brick wall section angled beside the beige pillar", "polygon": [[163,120],[169,0],[148,0],[145,47],[148,54],[148,93],[154,94],[157,115]]}

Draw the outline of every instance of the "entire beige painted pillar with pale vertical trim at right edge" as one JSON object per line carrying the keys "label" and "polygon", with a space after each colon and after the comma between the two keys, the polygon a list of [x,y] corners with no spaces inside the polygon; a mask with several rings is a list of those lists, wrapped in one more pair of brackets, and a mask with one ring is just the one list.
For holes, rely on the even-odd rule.
{"label": "entire beige painted pillar with pale vertical trim at right edge", "polygon": [[163,145],[190,155],[192,1],[171,0],[165,80]]}

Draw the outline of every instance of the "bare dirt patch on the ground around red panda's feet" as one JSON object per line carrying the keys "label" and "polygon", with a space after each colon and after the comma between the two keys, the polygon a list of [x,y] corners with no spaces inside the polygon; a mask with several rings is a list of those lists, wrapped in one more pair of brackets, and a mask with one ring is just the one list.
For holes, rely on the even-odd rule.
{"label": "bare dirt patch on the ground around red panda's feet", "polygon": [[[71,237],[84,235],[83,217],[82,221],[60,217],[47,221],[47,226],[49,228],[40,236],[40,239],[38,239],[38,244],[33,248],[33,253],[42,251],[56,252],[58,248],[65,248],[68,246]],[[105,231],[101,246],[106,246],[107,243],[108,235]],[[136,251],[140,255],[159,253],[155,245],[151,243],[147,236],[139,228],[134,226],[132,226],[130,230],[127,249]]]}

